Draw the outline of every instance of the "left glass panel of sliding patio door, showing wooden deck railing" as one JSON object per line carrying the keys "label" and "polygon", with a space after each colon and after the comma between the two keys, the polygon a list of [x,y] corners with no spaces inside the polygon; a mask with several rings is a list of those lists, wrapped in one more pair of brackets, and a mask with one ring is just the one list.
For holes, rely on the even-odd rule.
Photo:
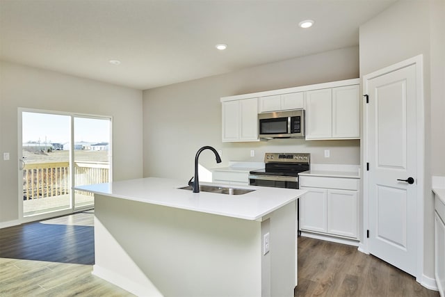
{"label": "left glass panel of sliding patio door, showing wooden deck railing", "polygon": [[23,216],[70,209],[70,115],[22,112]]}

